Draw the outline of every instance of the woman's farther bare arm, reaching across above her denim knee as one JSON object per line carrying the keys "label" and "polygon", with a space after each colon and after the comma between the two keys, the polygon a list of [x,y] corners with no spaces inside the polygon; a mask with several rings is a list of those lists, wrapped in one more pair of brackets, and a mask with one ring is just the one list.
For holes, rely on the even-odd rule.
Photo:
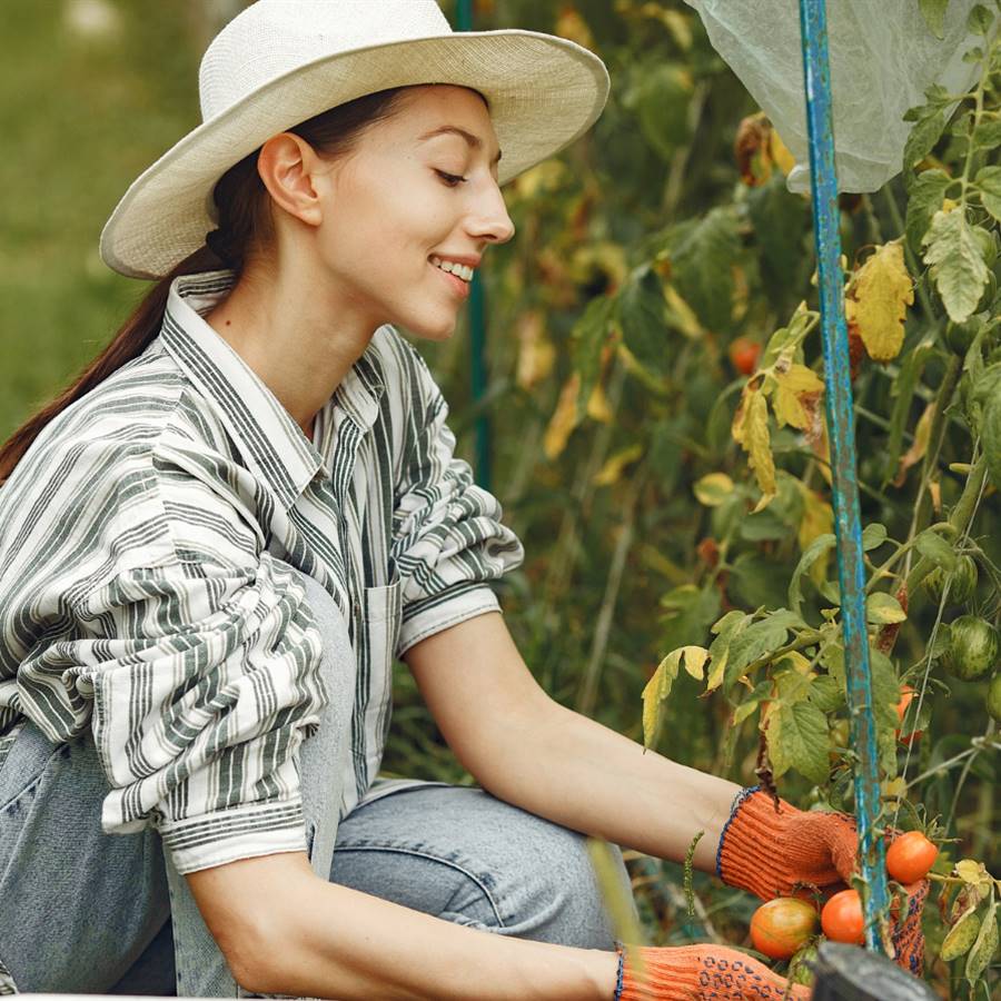
{"label": "woman's farther bare arm, reaching across above her denim knee", "polygon": [[467,620],[405,655],[456,757],[498,799],[531,813],[715,872],[740,786],[677,764],[546,695],[502,615]]}

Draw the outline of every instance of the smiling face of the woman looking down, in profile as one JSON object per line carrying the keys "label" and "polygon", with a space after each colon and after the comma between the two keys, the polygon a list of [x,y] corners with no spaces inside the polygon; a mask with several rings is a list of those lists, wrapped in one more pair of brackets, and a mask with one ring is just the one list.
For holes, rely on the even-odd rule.
{"label": "smiling face of the woman looking down, in profile", "polygon": [[488,245],[514,236],[497,153],[483,99],[435,85],[409,88],[390,118],[331,162],[317,246],[338,297],[371,329],[452,334],[470,276],[440,265],[475,269]]}

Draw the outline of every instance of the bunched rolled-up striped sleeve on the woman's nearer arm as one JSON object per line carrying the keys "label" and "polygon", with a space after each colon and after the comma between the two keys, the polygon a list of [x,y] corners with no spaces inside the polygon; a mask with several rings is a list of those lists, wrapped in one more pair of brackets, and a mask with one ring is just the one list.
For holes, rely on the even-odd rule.
{"label": "bunched rolled-up striped sleeve on the woman's nearer arm", "polygon": [[133,568],[80,611],[96,635],[34,666],[92,700],[103,831],[156,827],[181,873],[305,851],[299,746],[327,693],[291,569],[268,553],[246,569]]}

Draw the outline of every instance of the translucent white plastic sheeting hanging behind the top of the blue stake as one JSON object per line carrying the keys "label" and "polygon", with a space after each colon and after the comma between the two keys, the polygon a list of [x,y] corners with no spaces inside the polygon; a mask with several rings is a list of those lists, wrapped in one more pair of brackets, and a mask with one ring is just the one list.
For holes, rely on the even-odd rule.
{"label": "translucent white plastic sheeting hanging behind the top of the blue stake", "polygon": [[[698,11],[713,48],[796,158],[786,179],[789,189],[809,191],[799,0],[685,2]],[[913,126],[902,116],[924,103],[928,87],[940,83],[950,93],[972,87],[980,67],[963,62],[962,56],[983,43],[967,32],[975,0],[949,0],[940,40],[925,24],[916,0],[827,0],[840,191],[875,191],[900,174]]]}

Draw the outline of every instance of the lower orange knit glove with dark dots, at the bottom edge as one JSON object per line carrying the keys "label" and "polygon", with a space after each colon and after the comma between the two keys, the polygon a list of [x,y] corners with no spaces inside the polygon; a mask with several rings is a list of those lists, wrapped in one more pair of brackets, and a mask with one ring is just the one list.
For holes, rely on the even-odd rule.
{"label": "lower orange knit glove with dark dots, at the bottom edge", "polygon": [[764,963],[724,945],[641,945],[633,951],[642,955],[645,975],[640,978],[632,957],[620,947],[615,1001],[782,1001],[785,997],[805,1001],[810,997],[807,988],[790,988]]}

